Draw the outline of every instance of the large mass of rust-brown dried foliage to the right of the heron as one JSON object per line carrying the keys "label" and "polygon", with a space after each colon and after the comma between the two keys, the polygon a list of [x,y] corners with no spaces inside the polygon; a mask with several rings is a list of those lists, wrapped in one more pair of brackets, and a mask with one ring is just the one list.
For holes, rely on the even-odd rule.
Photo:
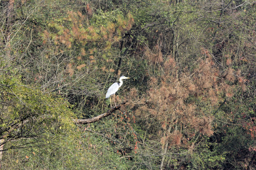
{"label": "large mass of rust-brown dried foliage to the right of the heron", "polygon": [[[216,110],[225,97],[231,98],[234,95],[235,86],[231,85],[234,81],[244,85],[246,80],[239,71],[235,76],[235,70],[229,67],[226,72],[220,73],[210,52],[204,48],[201,48],[204,57],[198,60],[197,67],[191,72],[184,69],[178,73],[175,59],[171,55],[164,59],[158,45],[153,50],[147,48],[145,55],[151,63],[161,64],[159,67],[163,74],[161,79],[150,77],[147,92],[147,102],[150,104],[140,107],[136,114],[144,113],[161,122],[158,136],[162,146],[168,141],[170,145],[184,143],[184,146],[190,147],[188,141],[195,136],[191,134],[212,136],[214,116],[203,108]],[[230,64],[231,61],[227,65]],[[133,91],[131,96],[134,96]]]}

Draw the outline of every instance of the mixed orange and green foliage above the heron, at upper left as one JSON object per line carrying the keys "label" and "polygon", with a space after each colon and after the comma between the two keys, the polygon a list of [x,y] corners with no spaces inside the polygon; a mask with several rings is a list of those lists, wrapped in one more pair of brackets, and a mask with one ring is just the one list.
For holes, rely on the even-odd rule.
{"label": "mixed orange and green foliage above the heron, at upper left", "polygon": [[[89,4],[86,5],[86,9],[87,15],[91,18],[92,10]],[[63,46],[68,49],[77,49],[81,51],[78,55],[83,56],[83,59],[89,58],[91,63],[97,61],[97,56],[91,58],[95,49],[109,51],[134,23],[132,15],[128,13],[127,17],[117,16],[117,22],[109,21],[105,26],[97,27],[91,25],[89,17],[84,16],[80,11],[68,11],[63,21],[61,24],[56,21],[48,24],[49,29],[41,34],[43,44],[53,45],[52,42],[54,42],[56,54],[64,48]],[[77,59],[81,60],[82,57],[77,57]],[[73,75],[70,68],[68,72]]]}

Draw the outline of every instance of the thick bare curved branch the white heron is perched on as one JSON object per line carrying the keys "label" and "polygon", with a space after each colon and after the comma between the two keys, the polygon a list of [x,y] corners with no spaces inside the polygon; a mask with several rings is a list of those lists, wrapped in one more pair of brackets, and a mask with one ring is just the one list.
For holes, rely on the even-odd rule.
{"label": "thick bare curved branch the white heron is perched on", "polygon": [[93,122],[96,122],[96,121],[99,121],[101,120],[102,118],[105,118],[107,116],[110,116],[111,113],[113,113],[115,110],[119,110],[120,107],[124,106],[127,102],[123,102],[113,108],[111,108],[110,110],[108,110],[107,112],[99,115],[99,116],[96,116],[94,118],[90,118],[90,119],[73,119],[73,121],[77,124],[87,124],[87,123],[93,123]]}

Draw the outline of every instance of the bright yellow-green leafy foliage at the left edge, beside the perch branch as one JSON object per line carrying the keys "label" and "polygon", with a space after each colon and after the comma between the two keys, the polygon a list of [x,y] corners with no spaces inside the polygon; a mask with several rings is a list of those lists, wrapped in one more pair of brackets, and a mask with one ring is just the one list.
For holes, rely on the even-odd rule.
{"label": "bright yellow-green leafy foliage at the left edge, beside the perch branch", "polygon": [[[74,114],[67,101],[42,93],[39,88],[24,85],[17,69],[6,65],[2,68],[6,71],[0,74],[0,103],[3,106],[0,136],[6,140],[7,149],[30,143],[37,145],[44,139],[48,143],[52,136],[50,134],[59,136],[64,131],[67,135],[72,134]],[[26,138],[33,139],[28,142]],[[24,140],[24,144],[13,142],[17,139]]]}

